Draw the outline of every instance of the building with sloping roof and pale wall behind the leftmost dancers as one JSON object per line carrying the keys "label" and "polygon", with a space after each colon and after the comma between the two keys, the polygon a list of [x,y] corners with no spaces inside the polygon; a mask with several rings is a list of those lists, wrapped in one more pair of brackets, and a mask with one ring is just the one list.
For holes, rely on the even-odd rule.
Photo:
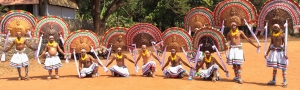
{"label": "building with sloping roof and pale wall behind the leftmost dancers", "polygon": [[78,5],[75,0],[0,0],[9,10],[26,10],[34,16],[55,15],[66,19],[76,19]]}

